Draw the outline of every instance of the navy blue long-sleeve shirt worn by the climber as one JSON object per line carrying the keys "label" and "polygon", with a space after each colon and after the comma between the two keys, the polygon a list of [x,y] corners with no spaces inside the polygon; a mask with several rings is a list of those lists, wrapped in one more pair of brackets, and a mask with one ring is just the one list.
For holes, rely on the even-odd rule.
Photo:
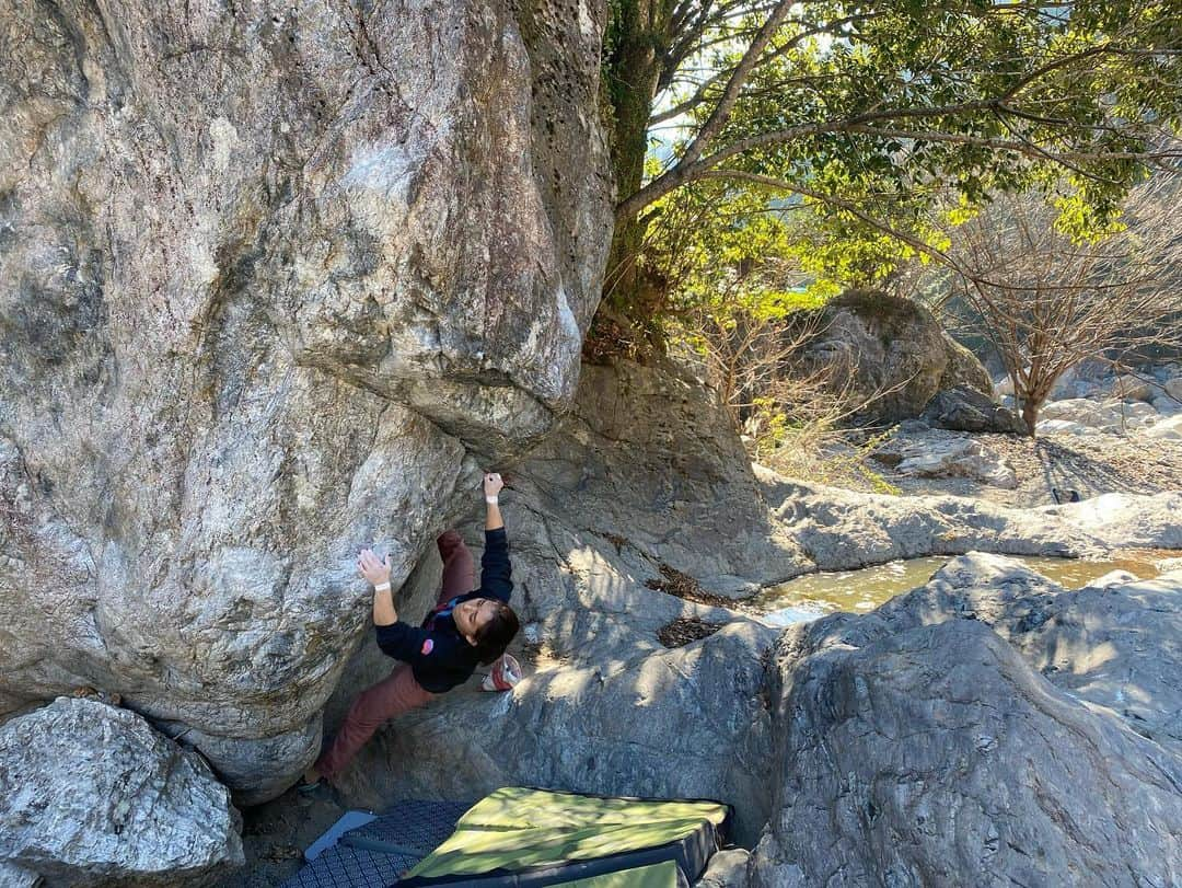
{"label": "navy blue long-sleeve shirt worn by the climber", "polygon": [[[505,529],[485,531],[485,553],[480,557],[480,588],[456,596],[448,604],[454,608],[473,598],[498,598],[508,603],[512,592],[509,543]],[[436,694],[466,682],[480,662],[476,648],[460,634],[450,612],[444,615],[431,611],[421,627],[402,621],[379,626],[377,646],[395,660],[410,663],[415,680]]]}

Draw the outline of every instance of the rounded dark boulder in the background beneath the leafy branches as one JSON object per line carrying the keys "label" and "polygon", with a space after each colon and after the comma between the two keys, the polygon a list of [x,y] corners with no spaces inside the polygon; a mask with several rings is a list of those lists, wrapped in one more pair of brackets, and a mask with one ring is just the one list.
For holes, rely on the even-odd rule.
{"label": "rounded dark boulder in the background beneath the leafy branches", "polygon": [[931,312],[872,290],[850,291],[825,306],[810,357],[833,368],[838,384],[851,380],[856,396],[870,400],[859,414],[865,421],[913,419],[937,391],[957,385],[993,390],[986,369]]}

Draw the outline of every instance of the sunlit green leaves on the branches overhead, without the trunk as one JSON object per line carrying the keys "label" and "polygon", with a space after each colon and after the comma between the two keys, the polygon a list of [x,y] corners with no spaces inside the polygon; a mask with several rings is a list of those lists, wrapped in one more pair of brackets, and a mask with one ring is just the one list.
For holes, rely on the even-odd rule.
{"label": "sunlit green leaves on the branches overhead, without the trunk", "polygon": [[[1040,190],[1059,206],[1063,231],[1095,238],[1143,177],[1144,153],[1182,119],[1176,0],[821,1],[793,7],[700,156],[682,162],[768,6],[703,0],[727,12],[696,34],[688,19],[668,18],[674,6],[644,4],[649,58],[660,66],[669,47],[693,44],[670,57],[677,71],[663,74],[662,101],[700,101],[677,118],[680,131],[662,131],[665,162],[650,158],[642,218],[619,220],[648,229],[619,244],[643,244],[639,267],[664,276],[649,289],[676,291],[637,302],[647,323],[723,285],[761,305],[797,287],[820,297],[881,284],[908,259],[939,259],[948,219],[970,218],[998,193]],[[618,22],[638,8],[611,7]],[[642,82],[656,80],[612,69],[619,89]],[[655,98],[645,97],[650,109]],[[695,181],[704,175],[729,179]],[[688,235],[674,231],[687,225]],[[626,309],[628,293],[617,296]]]}

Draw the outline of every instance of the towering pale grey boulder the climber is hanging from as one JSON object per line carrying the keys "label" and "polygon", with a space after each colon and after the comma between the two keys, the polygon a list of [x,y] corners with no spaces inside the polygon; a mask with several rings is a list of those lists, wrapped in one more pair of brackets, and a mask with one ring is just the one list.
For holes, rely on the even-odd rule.
{"label": "towering pale grey boulder the climber is hanging from", "polygon": [[603,22],[0,0],[6,711],[119,692],[245,802],[316,754],[352,553],[404,579],[574,394]]}

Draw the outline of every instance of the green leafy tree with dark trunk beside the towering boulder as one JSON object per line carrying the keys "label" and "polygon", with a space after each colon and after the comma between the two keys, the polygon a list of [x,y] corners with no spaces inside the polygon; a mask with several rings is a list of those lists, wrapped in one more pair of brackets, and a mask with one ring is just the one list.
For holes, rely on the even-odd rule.
{"label": "green leafy tree with dark trunk beside the towering boulder", "polygon": [[[1182,116],[1176,13],[1168,0],[612,0],[621,201],[605,311],[644,328],[670,307],[645,251],[664,199],[695,183],[765,207],[804,201],[871,254],[889,235],[879,251],[943,260],[934,207],[1032,187],[1060,189],[1080,228],[1103,227],[1148,167],[1177,157],[1154,149]],[[658,134],[665,156],[647,170]],[[866,259],[849,246],[813,258]]]}

